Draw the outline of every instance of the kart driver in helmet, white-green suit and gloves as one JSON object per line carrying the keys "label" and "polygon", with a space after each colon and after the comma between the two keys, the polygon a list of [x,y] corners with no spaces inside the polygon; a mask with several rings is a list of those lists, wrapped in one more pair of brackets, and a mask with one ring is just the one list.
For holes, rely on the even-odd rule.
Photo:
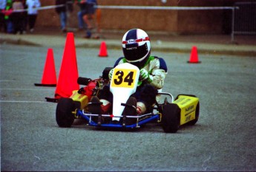
{"label": "kart driver in helmet, white-green suit and gloves", "polygon": [[[151,55],[151,42],[148,34],[144,30],[132,29],[125,32],[122,38],[122,51],[124,57],[119,58],[114,67],[120,63],[131,63],[140,69],[140,78],[137,91],[131,95],[127,104],[136,107],[134,115],[144,114],[150,110],[154,103],[156,103],[157,90],[163,88],[165,76],[167,74],[167,66],[163,58]],[[111,80],[114,69],[108,74]],[[105,86],[99,94],[98,100],[102,102],[102,113],[108,111],[111,106],[113,97],[109,87]],[[128,113],[131,114],[131,111]]]}

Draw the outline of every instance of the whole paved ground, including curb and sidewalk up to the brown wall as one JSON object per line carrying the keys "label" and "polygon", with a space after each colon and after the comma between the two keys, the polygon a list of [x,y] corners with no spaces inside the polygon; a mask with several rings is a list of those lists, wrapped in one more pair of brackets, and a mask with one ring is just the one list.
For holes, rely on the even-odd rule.
{"label": "whole paved ground, including curb and sidewalk up to the brown wall", "polygon": [[[79,76],[97,78],[122,55],[122,31],[102,31],[99,39],[69,31]],[[230,35],[148,35],[152,54],[168,65],[163,91],[200,98],[197,124],[177,134],[154,123],[115,131],[76,120],[59,128],[56,103],[45,101],[56,88],[33,83],[42,78],[47,47],[59,72],[66,34],[49,28],[1,33],[1,171],[255,171],[255,36],[237,36],[238,44],[231,44]],[[102,41],[108,58],[97,56]],[[202,63],[186,63],[192,46]]]}

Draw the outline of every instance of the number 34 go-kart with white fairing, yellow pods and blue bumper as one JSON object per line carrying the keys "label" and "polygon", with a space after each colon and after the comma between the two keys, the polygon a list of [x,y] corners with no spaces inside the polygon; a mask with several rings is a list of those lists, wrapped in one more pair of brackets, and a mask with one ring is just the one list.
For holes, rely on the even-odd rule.
{"label": "number 34 go-kart with white fairing, yellow pods and blue bumper", "polygon": [[[141,115],[129,115],[124,109],[129,107],[129,97],[136,92],[140,69],[131,63],[122,63],[114,68],[111,80],[105,68],[96,80],[78,78],[79,85],[85,87],[74,90],[69,98],[60,98],[56,106],[56,122],[59,127],[70,127],[75,119],[84,119],[88,125],[100,128],[140,128],[146,123],[160,123],[166,133],[176,133],[180,125],[194,125],[199,117],[200,103],[194,95],[179,94],[175,99],[172,94],[158,92],[158,101],[152,109]],[[91,106],[100,106],[101,102],[90,102],[104,86],[110,86],[113,94],[112,109],[108,114],[95,114]]]}

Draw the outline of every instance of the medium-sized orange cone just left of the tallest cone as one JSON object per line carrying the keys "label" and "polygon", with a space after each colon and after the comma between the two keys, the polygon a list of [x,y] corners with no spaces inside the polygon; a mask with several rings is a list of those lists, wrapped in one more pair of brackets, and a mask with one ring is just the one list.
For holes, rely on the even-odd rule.
{"label": "medium-sized orange cone just left of the tallest cone", "polygon": [[42,75],[42,83],[34,83],[35,86],[56,86],[56,70],[55,63],[53,59],[53,49],[48,49],[45,68]]}

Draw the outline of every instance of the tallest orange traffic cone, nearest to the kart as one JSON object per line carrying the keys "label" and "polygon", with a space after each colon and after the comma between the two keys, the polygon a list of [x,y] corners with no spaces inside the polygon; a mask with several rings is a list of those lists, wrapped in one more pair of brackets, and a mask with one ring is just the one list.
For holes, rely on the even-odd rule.
{"label": "tallest orange traffic cone, nearest to the kart", "polygon": [[45,97],[47,101],[58,102],[61,97],[70,97],[73,90],[79,89],[77,83],[78,69],[76,63],[76,47],[73,32],[68,32],[59,79],[56,86],[55,98]]}

